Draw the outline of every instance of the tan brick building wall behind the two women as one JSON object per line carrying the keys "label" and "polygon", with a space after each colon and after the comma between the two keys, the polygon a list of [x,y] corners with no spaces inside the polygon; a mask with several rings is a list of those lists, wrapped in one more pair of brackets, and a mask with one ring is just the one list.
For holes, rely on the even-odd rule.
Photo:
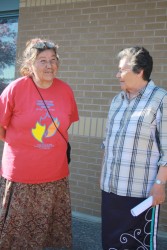
{"label": "tan brick building wall behind the two women", "polygon": [[[70,84],[79,108],[80,122],[70,129],[73,211],[100,217],[100,144],[109,104],[120,90],[116,55],[143,45],[154,58],[152,79],[167,88],[167,1],[20,0],[18,57],[34,37],[59,44],[58,77]],[[167,202],[160,230],[167,231]]]}

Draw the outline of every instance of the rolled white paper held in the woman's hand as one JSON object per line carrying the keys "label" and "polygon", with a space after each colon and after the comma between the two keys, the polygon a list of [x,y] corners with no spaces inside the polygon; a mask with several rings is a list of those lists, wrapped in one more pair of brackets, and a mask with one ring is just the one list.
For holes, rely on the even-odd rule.
{"label": "rolled white paper held in the woman's hand", "polygon": [[146,200],[142,201],[137,206],[135,206],[134,208],[132,208],[130,210],[131,214],[133,216],[138,216],[139,214],[143,213],[146,209],[148,209],[149,207],[151,207],[152,204],[153,204],[153,197],[150,196]]}

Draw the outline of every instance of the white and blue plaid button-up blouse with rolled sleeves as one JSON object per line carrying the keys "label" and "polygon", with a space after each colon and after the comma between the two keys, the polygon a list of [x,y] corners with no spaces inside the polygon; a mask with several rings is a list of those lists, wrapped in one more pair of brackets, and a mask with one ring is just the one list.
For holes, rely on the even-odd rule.
{"label": "white and blue plaid button-up blouse with rolled sleeves", "polygon": [[112,101],[106,125],[101,189],[147,197],[159,166],[167,165],[167,91],[150,81],[131,101]]}

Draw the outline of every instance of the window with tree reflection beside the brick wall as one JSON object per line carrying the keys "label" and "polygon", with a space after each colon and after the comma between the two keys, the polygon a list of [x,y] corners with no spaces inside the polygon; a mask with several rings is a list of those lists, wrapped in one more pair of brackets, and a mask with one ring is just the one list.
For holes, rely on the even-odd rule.
{"label": "window with tree reflection beside the brick wall", "polygon": [[0,83],[8,84],[15,77],[18,15],[0,16]]}

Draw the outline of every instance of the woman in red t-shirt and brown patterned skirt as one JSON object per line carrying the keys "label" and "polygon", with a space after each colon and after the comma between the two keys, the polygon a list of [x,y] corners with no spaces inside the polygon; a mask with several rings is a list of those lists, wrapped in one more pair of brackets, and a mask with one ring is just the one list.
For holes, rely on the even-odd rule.
{"label": "woman in red t-shirt and brown patterned skirt", "polygon": [[22,77],[0,96],[0,249],[72,248],[66,151],[78,110],[58,66],[53,42],[28,41]]}

